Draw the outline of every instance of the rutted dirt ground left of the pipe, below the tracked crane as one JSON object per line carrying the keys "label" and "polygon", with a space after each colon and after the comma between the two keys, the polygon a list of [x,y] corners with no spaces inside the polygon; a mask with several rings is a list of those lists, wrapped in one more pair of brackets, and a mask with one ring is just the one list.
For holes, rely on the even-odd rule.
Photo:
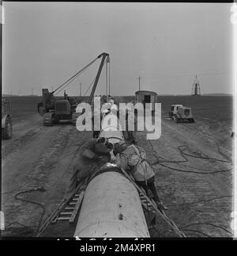
{"label": "rutted dirt ground left of the pipe, below the tracked crane", "polygon": [[[2,206],[6,227],[14,222],[34,230],[38,226],[43,208],[14,199],[16,193],[27,189],[46,189],[19,197],[43,204],[43,220],[50,215],[62,201],[77,150],[87,137],[71,124],[44,127],[38,115],[14,124],[13,139],[2,141]],[[20,227],[11,225],[6,235],[17,235],[15,231],[21,232]]]}

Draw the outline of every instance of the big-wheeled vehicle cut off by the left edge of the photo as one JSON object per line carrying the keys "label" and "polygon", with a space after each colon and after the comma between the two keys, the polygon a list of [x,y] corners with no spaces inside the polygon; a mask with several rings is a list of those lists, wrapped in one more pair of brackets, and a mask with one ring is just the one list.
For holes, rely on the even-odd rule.
{"label": "big-wheeled vehicle cut off by the left edge of the photo", "polygon": [[10,116],[9,101],[2,97],[2,139],[11,139],[13,135],[13,122]]}

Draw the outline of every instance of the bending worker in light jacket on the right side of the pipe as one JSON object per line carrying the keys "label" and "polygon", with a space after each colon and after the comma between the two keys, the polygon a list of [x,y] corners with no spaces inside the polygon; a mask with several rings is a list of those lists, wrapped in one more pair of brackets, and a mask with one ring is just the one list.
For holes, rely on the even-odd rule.
{"label": "bending worker in light jacket on the right side of the pipe", "polygon": [[[116,145],[117,146],[117,145]],[[149,196],[149,190],[152,197],[160,209],[167,209],[160,201],[160,197],[156,191],[155,186],[155,173],[148,162],[145,161],[146,154],[142,147],[130,145],[126,147],[114,147],[114,155],[116,155],[119,165],[122,169],[130,169],[130,174],[134,177],[137,185],[145,189],[146,194]]]}

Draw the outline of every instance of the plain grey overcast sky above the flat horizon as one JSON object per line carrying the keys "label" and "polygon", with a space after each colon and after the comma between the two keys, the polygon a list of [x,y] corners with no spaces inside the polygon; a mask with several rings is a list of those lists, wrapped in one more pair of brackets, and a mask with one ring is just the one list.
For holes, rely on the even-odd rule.
{"label": "plain grey overcast sky above the flat horizon", "polygon": [[[3,93],[57,88],[102,52],[111,57],[111,94],[138,90],[231,93],[230,4],[4,2]],[[100,61],[68,86],[82,94]],[[89,92],[88,92],[89,93]],[[105,94],[105,71],[96,94]],[[87,94],[88,95],[88,94]]]}

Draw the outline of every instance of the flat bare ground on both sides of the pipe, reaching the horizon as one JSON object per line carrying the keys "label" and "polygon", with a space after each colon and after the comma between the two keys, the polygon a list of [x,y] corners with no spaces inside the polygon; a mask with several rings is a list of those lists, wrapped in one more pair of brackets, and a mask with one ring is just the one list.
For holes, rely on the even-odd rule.
{"label": "flat bare ground on both sides of the pipe, reaching the horizon", "polygon": [[[133,97],[116,97],[130,101]],[[40,97],[9,97],[13,138],[2,140],[2,235],[35,235],[41,221],[62,201],[77,151],[92,132],[78,132],[71,124],[43,127],[36,105]],[[160,139],[148,141],[139,132],[156,172],[156,187],[167,205],[167,215],[189,237],[231,236],[232,97],[158,97],[162,104]],[[167,120],[172,104],[192,108],[194,124]],[[181,147],[180,147],[181,146]],[[184,154],[186,155],[184,155]],[[45,192],[16,193],[44,187]],[[42,221],[41,221],[42,223]],[[64,226],[63,226],[64,225]],[[62,227],[63,226],[63,227]],[[73,226],[57,224],[43,235],[73,235]],[[175,236],[163,221],[150,229],[153,237]]]}

